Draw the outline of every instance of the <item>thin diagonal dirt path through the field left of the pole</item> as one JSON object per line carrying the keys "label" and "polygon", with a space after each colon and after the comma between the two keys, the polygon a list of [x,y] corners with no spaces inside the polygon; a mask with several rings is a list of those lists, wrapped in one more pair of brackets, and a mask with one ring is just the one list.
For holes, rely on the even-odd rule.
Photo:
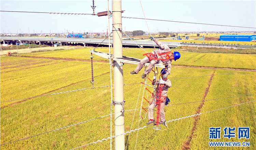
{"label": "thin diagonal dirt path through the field left of the pole", "polygon": [[[95,76],[95,77],[99,77],[99,76],[102,76],[102,75],[105,75],[105,74],[109,74],[109,73],[110,73],[110,72],[106,72],[106,73],[103,73],[103,74],[98,75],[98,76]],[[48,94],[51,93],[51,92],[54,92],[54,91],[57,91],[57,90],[60,90],[60,89],[63,89],[63,88],[67,88],[67,87],[69,87],[69,86],[73,86],[73,85],[76,85],[76,84],[78,84],[78,83],[81,83],[81,82],[84,82],[84,81],[87,81],[87,80],[90,80],[90,78],[89,78],[89,79],[86,79],[86,80],[79,81],[79,82],[71,83],[70,85],[67,85],[67,86],[64,86],[64,87],[61,87],[61,88],[58,88],[58,89],[54,89],[54,90],[49,91],[49,92],[46,92],[46,93],[42,93],[42,94],[40,94],[40,95],[38,95],[38,96],[34,96],[34,97],[31,97],[31,98],[24,99],[24,100],[22,100],[22,101],[15,102],[15,103],[10,104],[10,105],[8,105],[8,106],[4,106],[4,107],[1,108],[1,109],[7,108],[7,107],[10,107],[10,106],[14,106],[14,105],[16,105],[16,104],[19,104],[19,103],[21,103],[21,102],[27,101],[27,100],[32,99],[32,98],[36,98],[36,97],[39,97],[39,96],[48,95]],[[88,88],[88,89],[92,89],[92,88]],[[66,92],[66,91],[65,91],[65,92]]]}

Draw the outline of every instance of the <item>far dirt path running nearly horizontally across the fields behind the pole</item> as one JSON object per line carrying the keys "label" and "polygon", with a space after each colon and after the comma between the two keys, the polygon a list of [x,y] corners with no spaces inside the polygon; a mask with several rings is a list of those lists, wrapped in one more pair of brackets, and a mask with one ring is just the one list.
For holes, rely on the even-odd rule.
{"label": "far dirt path running nearly horizontally across the fields behind the pole", "polygon": [[[17,56],[13,56],[17,57]],[[90,62],[91,60],[85,59],[71,59],[71,58],[53,58],[53,57],[34,57],[34,56],[19,56],[24,58],[43,58],[43,59],[55,59],[55,60],[71,60],[71,61],[86,61]],[[105,62],[109,63],[109,60],[93,60],[94,62]],[[130,64],[130,63],[127,63]],[[214,68],[214,67],[194,67],[194,66],[185,66],[185,65],[172,65],[172,67],[184,67],[184,68],[202,68],[202,69],[221,69],[221,70],[234,70],[234,71],[251,71],[256,72],[256,70],[248,70],[248,69],[231,69],[231,68]]]}

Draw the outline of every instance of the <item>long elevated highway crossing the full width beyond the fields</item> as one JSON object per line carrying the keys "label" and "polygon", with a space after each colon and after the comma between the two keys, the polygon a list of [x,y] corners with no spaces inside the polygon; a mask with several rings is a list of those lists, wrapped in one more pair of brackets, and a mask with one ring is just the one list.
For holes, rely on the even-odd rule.
{"label": "long elevated highway crossing the full width beyond the fields", "polygon": [[[0,37],[1,43],[5,44],[16,44],[16,43],[37,43],[52,45],[60,43],[61,45],[83,45],[83,46],[96,46],[96,45],[109,45],[108,39],[82,39],[82,38],[57,38],[57,37]],[[103,41],[103,42],[102,42]],[[197,47],[217,47],[217,48],[256,48],[256,45],[229,45],[229,44],[200,44],[200,43],[181,43],[181,42],[165,42],[163,44],[168,45],[170,48],[176,48],[177,46],[197,46]],[[110,40],[110,44],[113,45],[113,40]],[[154,46],[158,48],[155,42],[142,41],[142,40],[123,40],[123,47],[150,47]]]}

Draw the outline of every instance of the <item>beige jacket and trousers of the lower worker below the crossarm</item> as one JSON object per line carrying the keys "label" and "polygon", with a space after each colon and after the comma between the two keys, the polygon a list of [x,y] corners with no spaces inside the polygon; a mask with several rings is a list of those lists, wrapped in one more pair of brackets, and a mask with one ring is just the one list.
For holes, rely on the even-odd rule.
{"label": "beige jacket and trousers of the lower worker below the crossarm", "polygon": [[[159,82],[160,80],[157,79],[156,82]],[[172,86],[172,83],[169,79],[165,79],[165,84],[163,85],[163,91],[162,91],[162,96],[161,97],[161,103],[160,103],[160,121],[164,122],[165,121],[165,112],[163,109],[165,108],[165,97],[167,97],[167,91],[168,89]],[[152,85],[154,85],[154,80],[152,82]],[[159,86],[159,83],[158,83]],[[157,86],[157,87],[158,87]],[[152,104],[148,107],[148,119],[154,119],[154,108],[156,107],[156,98],[153,99]]]}

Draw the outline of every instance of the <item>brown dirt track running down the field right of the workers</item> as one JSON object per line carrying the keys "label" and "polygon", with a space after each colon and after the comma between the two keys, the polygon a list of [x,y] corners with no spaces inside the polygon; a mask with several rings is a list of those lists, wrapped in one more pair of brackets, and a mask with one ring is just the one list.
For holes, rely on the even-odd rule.
{"label": "brown dirt track running down the field right of the workers", "polygon": [[[212,83],[212,78],[214,76],[214,73],[215,73],[215,70],[209,80],[209,83],[208,83],[208,87],[205,89],[204,91],[204,96],[203,96],[203,100],[201,102],[201,104],[199,105],[196,113],[199,114],[201,112],[201,109],[204,105],[204,100],[205,100],[205,97],[207,96],[208,92],[209,92],[209,89],[210,89],[210,86],[211,86],[211,83]],[[188,137],[187,141],[183,143],[183,146],[182,146],[182,150],[188,150],[190,149],[190,142],[191,142],[191,139],[194,137],[194,133],[195,133],[195,130],[197,129],[197,123],[198,123],[198,120],[200,120],[200,115],[197,115],[195,117],[195,120],[194,120],[194,127],[192,128],[192,131],[191,131],[191,134],[190,136]]]}

